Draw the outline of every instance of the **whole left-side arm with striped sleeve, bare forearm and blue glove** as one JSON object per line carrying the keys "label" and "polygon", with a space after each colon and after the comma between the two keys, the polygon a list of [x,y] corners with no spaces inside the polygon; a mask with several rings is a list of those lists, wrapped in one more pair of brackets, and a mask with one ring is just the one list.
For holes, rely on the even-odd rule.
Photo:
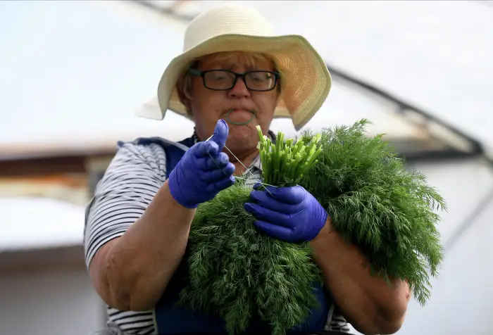
{"label": "whole left-side arm with striped sleeve, bare forearm and blue glove", "polygon": [[85,232],[89,274],[108,305],[150,310],[161,298],[185,253],[194,208],[235,182],[235,165],[220,152],[227,134],[218,121],[211,140],[189,148],[166,182],[157,144],[127,144],[113,158]]}

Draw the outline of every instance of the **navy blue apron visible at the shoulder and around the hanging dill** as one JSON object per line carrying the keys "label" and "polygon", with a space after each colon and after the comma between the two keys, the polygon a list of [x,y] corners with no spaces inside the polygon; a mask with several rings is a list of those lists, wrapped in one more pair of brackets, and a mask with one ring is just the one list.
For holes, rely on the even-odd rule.
{"label": "navy blue apron visible at the shoulder and around the hanging dill", "polygon": [[[151,142],[163,146],[166,152],[166,179],[185,154],[185,150],[194,145],[193,137],[184,139],[178,144],[158,137],[137,139],[139,144]],[[158,334],[227,335],[225,322],[220,317],[213,317],[206,315],[205,312],[176,305],[188,275],[186,258],[187,251],[185,251],[184,260],[173,275],[154,310]],[[314,309],[304,324],[289,330],[287,334],[313,334],[324,330],[332,299],[319,285],[315,286],[314,291],[321,308]],[[270,334],[270,326],[260,318],[256,318],[256,320],[252,320],[245,334]]]}

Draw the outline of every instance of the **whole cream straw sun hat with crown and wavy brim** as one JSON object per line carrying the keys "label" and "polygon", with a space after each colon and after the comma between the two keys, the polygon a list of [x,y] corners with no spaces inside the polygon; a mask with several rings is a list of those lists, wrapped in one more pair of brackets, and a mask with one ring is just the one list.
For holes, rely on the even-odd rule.
{"label": "whole cream straw sun hat with crown and wavy brim", "polygon": [[327,99],[330,73],[304,37],[276,36],[268,20],[258,11],[228,4],[201,13],[189,23],[183,53],[164,71],[157,101],[154,98],[146,103],[137,110],[137,115],[163,120],[166,110],[170,109],[188,118],[177,94],[177,80],[196,58],[224,51],[264,53],[273,58],[282,78],[274,118],[291,118],[297,130],[306,125]]}

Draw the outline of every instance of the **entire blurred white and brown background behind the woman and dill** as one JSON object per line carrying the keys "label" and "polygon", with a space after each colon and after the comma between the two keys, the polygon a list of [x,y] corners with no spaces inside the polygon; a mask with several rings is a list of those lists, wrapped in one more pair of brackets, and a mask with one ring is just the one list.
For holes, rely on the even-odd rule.
{"label": "entire blurred white and brown background behind the woman and dill", "polygon": [[[192,134],[174,113],[133,113],[155,103],[189,20],[224,2],[0,1],[0,334],[105,327],[85,205],[116,141]],[[235,2],[325,58],[333,88],[306,127],[368,118],[449,204],[432,298],[411,302],[398,334],[493,334],[493,3]],[[273,130],[296,134],[289,120]]]}

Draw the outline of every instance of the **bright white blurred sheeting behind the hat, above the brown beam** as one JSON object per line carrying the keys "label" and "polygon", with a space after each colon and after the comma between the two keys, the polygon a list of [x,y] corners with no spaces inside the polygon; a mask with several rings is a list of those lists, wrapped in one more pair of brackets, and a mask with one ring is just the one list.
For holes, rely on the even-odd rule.
{"label": "bright white blurred sheeting behind the hat, above the brown beam", "polygon": [[[182,10],[197,13],[221,1],[187,2]],[[263,11],[277,32],[306,35],[338,68],[493,141],[488,8],[460,1],[242,2]],[[113,144],[149,134],[180,139],[191,131],[191,122],[173,113],[163,122],[132,114],[180,52],[184,24],[130,1],[4,1],[0,18],[10,32],[0,46],[0,148]],[[374,132],[418,136],[387,113],[392,108],[336,82],[307,127],[368,117]],[[273,128],[294,132],[289,120]]]}

